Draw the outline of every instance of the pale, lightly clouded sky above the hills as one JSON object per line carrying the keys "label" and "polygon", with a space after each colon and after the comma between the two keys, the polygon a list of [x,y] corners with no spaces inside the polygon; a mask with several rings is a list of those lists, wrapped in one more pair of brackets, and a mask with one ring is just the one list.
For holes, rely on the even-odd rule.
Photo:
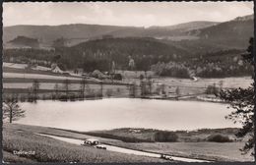
{"label": "pale, lightly clouded sky above the hills", "polygon": [[192,21],[225,22],[253,14],[251,2],[6,2],[4,27],[91,24],[172,26]]}

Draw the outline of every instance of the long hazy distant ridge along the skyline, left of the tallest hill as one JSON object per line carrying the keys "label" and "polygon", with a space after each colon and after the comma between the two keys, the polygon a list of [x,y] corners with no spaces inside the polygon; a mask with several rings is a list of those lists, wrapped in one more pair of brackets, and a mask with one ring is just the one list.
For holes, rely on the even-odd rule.
{"label": "long hazy distant ridge along the skyline, left of the tallest hill", "polygon": [[[40,42],[52,42],[53,40],[64,37],[67,39],[94,39],[101,38],[104,34],[111,34],[115,37],[141,36],[141,37],[163,37],[177,35],[178,31],[197,29],[215,25],[212,22],[192,22],[169,27],[117,27],[100,25],[62,25],[62,26],[13,26],[3,27],[4,43],[14,39],[18,35],[38,38]],[[178,30],[177,30],[178,29]]]}

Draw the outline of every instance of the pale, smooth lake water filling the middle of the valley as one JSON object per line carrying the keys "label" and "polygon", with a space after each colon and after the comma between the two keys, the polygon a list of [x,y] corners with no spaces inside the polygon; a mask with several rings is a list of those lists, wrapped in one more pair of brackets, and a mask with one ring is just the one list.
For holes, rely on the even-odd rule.
{"label": "pale, smooth lake water filling the middle of the valley", "polygon": [[21,103],[26,117],[16,123],[76,131],[116,128],[176,131],[240,127],[224,119],[231,112],[226,106],[221,103],[139,98],[75,102],[46,100]]}

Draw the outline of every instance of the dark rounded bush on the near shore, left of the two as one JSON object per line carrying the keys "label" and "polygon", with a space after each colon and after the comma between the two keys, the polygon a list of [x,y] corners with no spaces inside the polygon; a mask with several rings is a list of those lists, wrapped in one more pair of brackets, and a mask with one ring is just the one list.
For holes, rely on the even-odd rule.
{"label": "dark rounded bush on the near shore, left of the two", "polygon": [[173,132],[164,132],[160,131],[155,134],[155,141],[159,142],[175,142],[178,139],[178,136]]}

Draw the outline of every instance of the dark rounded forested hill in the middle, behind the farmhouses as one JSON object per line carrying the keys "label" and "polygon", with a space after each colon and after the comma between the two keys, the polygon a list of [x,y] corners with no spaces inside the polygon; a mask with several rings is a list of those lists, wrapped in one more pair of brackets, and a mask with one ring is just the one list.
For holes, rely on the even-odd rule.
{"label": "dark rounded forested hill in the middle, behind the farmhouses", "polygon": [[109,67],[107,65],[112,61],[115,62],[116,67],[126,69],[129,57],[131,57],[135,61],[136,69],[145,70],[159,61],[178,60],[188,55],[189,52],[154,38],[126,37],[87,41],[66,48],[64,54],[66,55],[63,58],[66,58],[70,63],[79,63],[79,66],[84,67],[91,65],[95,60],[104,61],[105,66],[98,69],[107,69]]}

